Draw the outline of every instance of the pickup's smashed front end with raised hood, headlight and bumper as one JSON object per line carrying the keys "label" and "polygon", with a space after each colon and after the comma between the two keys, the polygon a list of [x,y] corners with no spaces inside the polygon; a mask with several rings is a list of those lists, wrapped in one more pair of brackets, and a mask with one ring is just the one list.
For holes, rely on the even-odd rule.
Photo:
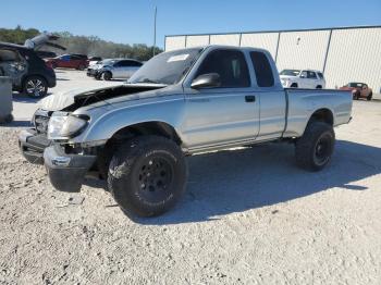
{"label": "pickup's smashed front end with raised hood, headlight and bumper", "polygon": [[87,106],[99,107],[99,102],[100,106],[105,102],[105,106],[112,108],[109,99],[125,97],[125,100],[138,100],[155,95],[145,95],[145,91],[163,87],[124,84],[49,96],[42,100],[44,109],[38,109],[34,114],[34,127],[23,131],[19,136],[22,153],[32,163],[45,164],[56,189],[78,191],[89,171],[105,177],[99,160],[106,157],[102,152],[107,141],[71,142],[72,138],[86,129],[91,120],[88,115],[78,115],[74,111]]}

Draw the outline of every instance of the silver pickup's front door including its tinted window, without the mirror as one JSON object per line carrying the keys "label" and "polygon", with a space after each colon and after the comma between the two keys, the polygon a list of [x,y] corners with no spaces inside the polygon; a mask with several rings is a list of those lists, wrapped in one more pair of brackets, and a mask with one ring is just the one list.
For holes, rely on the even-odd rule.
{"label": "silver pickup's front door including its tinted window, without the mirror", "polygon": [[220,86],[185,88],[183,135],[189,150],[253,141],[259,133],[259,97],[251,86],[245,54],[235,49],[210,51],[196,78],[217,73]]}

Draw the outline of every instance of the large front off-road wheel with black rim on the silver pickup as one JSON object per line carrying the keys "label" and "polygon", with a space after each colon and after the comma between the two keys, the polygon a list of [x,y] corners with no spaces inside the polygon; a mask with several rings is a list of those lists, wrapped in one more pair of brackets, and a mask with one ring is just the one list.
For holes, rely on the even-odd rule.
{"label": "large front off-road wheel with black rim on the silver pickup", "polygon": [[181,148],[160,136],[137,136],[115,150],[108,173],[109,191],[127,214],[155,216],[183,196],[187,165]]}

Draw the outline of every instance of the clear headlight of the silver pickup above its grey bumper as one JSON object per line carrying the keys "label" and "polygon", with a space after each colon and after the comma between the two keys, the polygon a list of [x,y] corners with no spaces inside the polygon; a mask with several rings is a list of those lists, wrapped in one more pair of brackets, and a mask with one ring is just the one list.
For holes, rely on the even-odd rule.
{"label": "clear headlight of the silver pickup above its grey bumper", "polygon": [[49,120],[48,139],[67,139],[77,136],[85,129],[87,121],[65,112],[54,112]]}

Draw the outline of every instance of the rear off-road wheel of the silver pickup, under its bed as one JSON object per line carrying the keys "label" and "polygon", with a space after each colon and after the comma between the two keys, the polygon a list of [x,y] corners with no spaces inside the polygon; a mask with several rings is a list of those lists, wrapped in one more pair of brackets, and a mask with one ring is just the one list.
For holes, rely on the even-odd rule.
{"label": "rear off-road wheel of the silver pickup, under its bed", "polygon": [[295,142],[296,164],[308,171],[320,171],[330,161],[334,149],[333,127],[327,123],[308,123],[304,135]]}

